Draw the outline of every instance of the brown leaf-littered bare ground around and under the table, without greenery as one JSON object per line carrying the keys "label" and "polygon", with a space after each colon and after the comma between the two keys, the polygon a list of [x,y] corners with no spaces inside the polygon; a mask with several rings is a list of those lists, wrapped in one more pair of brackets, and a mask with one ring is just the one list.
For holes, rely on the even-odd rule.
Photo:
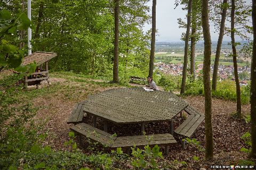
{"label": "brown leaf-littered bare ground around and under the table, without greenery", "polygon": [[[50,86],[39,86],[39,89],[28,88],[26,96],[21,96],[20,98],[23,101],[27,100],[29,103],[33,103],[34,107],[38,109],[33,120],[41,126],[41,132],[48,134],[44,145],[50,145],[54,150],[66,150],[67,148],[63,143],[69,140],[68,132],[72,126],[67,124],[67,120],[75,103],[85,100],[88,95],[92,95],[95,92],[111,88],[124,88],[124,86],[110,84],[104,80],[53,73],[50,78]],[[187,96],[183,98],[204,113],[203,96]],[[178,145],[170,147],[169,154],[165,156],[165,159],[184,161],[187,163],[188,169],[208,169],[210,165],[237,165],[239,160],[247,159],[248,154],[239,150],[243,147],[246,148],[241,136],[250,131],[250,124],[246,123],[244,119],[237,119],[233,116],[236,111],[236,103],[233,101],[213,98],[212,102],[214,160],[206,162],[204,160],[204,151],[199,151],[195,145],[188,144],[186,145],[186,150],[182,150],[181,139],[175,134],[174,138],[178,141]],[[242,112],[244,115],[249,114],[250,105],[243,105]],[[185,120],[184,117],[186,116],[175,118],[174,129],[181,121]],[[90,117],[87,118],[87,123],[92,124]],[[98,126],[102,128],[103,123],[98,121]],[[153,126],[154,128],[152,128]],[[168,129],[169,125],[163,122],[149,123],[146,125],[145,130],[147,134],[150,134],[167,133]],[[134,135],[140,133],[140,126],[123,125],[121,128],[113,124],[110,126],[109,131],[109,133],[115,131],[117,135]],[[200,141],[201,147],[204,148],[204,122],[199,126],[193,138]],[[83,148],[83,151],[89,152],[86,148]],[[195,156],[199,159],[196,160]]]}

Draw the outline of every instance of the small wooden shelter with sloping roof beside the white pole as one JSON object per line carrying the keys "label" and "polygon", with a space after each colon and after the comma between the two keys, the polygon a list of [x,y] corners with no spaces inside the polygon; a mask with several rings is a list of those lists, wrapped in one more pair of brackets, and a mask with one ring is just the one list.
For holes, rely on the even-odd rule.
{"label": "small wooden shelter with sloping roof beside the white pole", "polygon": [[37,68],[34,73],[32,73],[29,77],[25,77],[24,83],[26,86],[37,84],[42,80],[48,81],[49,79],[49,71],[48,71],[48,61],[53,57],[57,56],[56,53],[51,52],[35,52],[29,56],[24,57],[21,65],[27,65],[30,63],[37,64]]}

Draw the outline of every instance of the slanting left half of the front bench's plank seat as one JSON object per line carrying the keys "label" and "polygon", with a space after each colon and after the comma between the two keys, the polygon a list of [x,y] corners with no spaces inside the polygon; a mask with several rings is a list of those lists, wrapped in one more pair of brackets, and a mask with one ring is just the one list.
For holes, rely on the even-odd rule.
{"label": "slanting left half of the front bench's plank seat", "polygon": [[79,123],[70,129],[109,147],[111,147],[113,142],[116,140],[116,137],[113,135],[85,123]]}

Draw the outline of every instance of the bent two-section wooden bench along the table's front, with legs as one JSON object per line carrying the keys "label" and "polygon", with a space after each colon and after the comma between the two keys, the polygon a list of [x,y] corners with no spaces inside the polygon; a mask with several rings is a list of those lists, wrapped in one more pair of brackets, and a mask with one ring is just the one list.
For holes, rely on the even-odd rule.
{"label": "bent two-section wooden bench along the table's front, with legs", "polygon": [[[126,148],[129,152],[130,147],[133,146],[165,146],[165,154],[169,152],[169,146],[174,145],[177,141],[169,133],[165,134],[150,134],[150,135],[135,135],[127,137],[114,137],[113,135],[104,132],[100,129],[94,128],[91,125],[85,123],[79,123],[70,128],[75,131],[78,135],[83,135],[87,138],[92,139],[106,145],[110,148]],[[79,142],[82,145],[81,137]]]}

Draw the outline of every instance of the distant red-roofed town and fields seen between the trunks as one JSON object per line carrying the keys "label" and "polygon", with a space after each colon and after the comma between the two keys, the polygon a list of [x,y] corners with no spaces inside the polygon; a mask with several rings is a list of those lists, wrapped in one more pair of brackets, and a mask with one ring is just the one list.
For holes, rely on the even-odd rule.
{"label": "distant red-roofed town and fields seen between the trunks", "polygon": [[[224,44],[226,49],[221,50],[221,58],[218,68],[218,78],[219,81],[222,80],[235,80],[234,77],[234,66],[233,58],[230,56],[231,47],[228,44]],[[174,43],[159,43],[156,48],[156,61],[155,69],[158,70],[158,73],[165,73],[170,75],[182,75],[183,70],[183,58],[182,58],[182,44]],[[201,45],[199,45],[201,46]],[[214,48],[213,48],[214,49]],[[250,80],[251,67],[250,67],[250,58],[245,58],[245,55],[239,52],[238,48],[238,76],[241,86],[246,86]],[[161,51],[162,50],[162,51]],[[203,49],[199,47],[196,50],[196,75],[199,76],[202,74],[203,70]],[[201,55],[201,56],[200,56]],[[200,57],[199,57],[200,56]],[[212,50],[212,60],[211,60],[211,75],[213,73],[214,66],[214,57],[215,50]]]}

